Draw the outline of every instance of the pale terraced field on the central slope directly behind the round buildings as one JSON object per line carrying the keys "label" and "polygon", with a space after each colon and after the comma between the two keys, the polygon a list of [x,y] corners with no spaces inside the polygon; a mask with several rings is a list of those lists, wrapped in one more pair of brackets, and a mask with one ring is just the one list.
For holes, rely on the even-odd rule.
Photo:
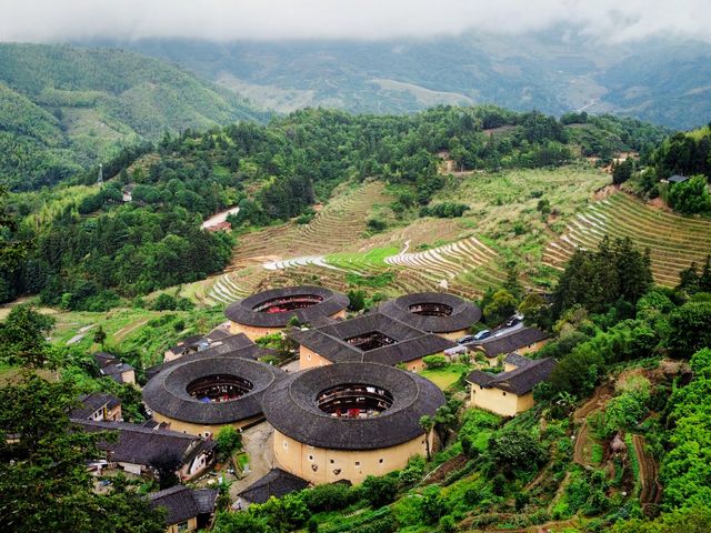
{"label": "pale terraced field on the central slope directly behind the round buildings", "polygon": [[[203,305],[226,305],[254,291],[294,283],[336,290],[377,289],[384,295],[448,291],[480,298],[505,280],[518,264],[524,284],[550,285],[555,270],[543,263],[543,250],[609,177],[590,168],[517,170],[448,178],[433,199],[463,202],[460,219],[395,219],[393,198],[381,182],[344,185],[308,224],[289,223],[238,237],[229,269],[184,285],[180,294]],[[537,211],[541,199],[554,215]],[[367,221],[388,228],[371,233]]]}

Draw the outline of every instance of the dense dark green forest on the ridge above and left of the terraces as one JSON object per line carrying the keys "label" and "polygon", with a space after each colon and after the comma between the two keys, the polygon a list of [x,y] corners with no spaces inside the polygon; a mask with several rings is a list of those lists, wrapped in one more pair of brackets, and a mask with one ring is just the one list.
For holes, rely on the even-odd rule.
{"label": "dense dark green forest on the ridge above and left of the terraces", "polygon": [[[22,269],[6,272],[2,296],[30,292],[51,305],[107,309],[119,298],[221,270],[232,241],[199,225],[227,207],[240,207],[233,228],[270,224],[328,200],[347,180],[374,177],[402,185],[402,205],[393,209],[415,203],[425,208],[422,214],[450,217],[461,207],[428,210],[443,185],[438,154],[460,170],[555,167],[581,154],[649,153],[662,135],[629,119],[581,113],[559,121],[493,107],[442,107],[411,117],[306,110],[267,125],[166,133],[154,147],[127,148],[107,160],[106,183],[56,202],[48,220],[30,213],[51,204],[62,188],[12,197],[10,208],[34,222],[19,231],[36,248]],[[90,185],[97,175],[93,167],[64,184]],[[124,203],[127,191],[131,201]]]}

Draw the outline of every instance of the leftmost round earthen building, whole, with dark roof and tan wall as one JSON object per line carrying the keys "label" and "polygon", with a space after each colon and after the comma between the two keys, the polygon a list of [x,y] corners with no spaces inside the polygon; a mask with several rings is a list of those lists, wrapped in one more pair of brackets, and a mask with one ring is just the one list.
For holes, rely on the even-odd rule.
{"label": "leftmost round earthen building, whole, with dark roof and tan wall", "polygon": [[143,388],[143,402],[174,431],[209,436],[263,420],[262,396],[286,376],[259,361],[222,354],[171,362]]}

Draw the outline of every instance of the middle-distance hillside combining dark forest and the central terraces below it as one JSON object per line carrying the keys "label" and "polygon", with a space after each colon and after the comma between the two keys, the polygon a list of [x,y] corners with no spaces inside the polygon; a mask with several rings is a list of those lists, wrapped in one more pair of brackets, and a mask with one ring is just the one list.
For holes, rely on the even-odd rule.
{"label": "middle-distance hillside combining dark forest and the central terraces below it", "polygon": [[[230,263],[236,280],[228,273],[186,295],[226,302],[260,284],[311,279],[369,293],[444,286],[479,298],[511,269],[528,285],[550,286],[554,271],[540,262],[550,224],[539,205],[555,210],[562,229],[609,181],[585,158],[642,150],[662,135],[628,119],[559,121],[494,107],[404,117],[304,110],[267,125],[166,135],[111,172],[104,167],[103,188],[73,204],[59,200],[61,189],[17,195],[22,213],[47,202],[62,209],[44,209],[59,214],[39,224],[26,219],[38,249],[0,295],[39,293],[46,304],[99,310]],[[82,178],[96,182],[92,173]],[[124,203],[127,188],[132,201]],[[226,234],[199,235],[202,220],[234,205],[230,261]],[[365,262],[338,255],[404,247],[408,253],[374,252]],[[263,275],[270,269],[259,263],[269,257],[286,263]]]}

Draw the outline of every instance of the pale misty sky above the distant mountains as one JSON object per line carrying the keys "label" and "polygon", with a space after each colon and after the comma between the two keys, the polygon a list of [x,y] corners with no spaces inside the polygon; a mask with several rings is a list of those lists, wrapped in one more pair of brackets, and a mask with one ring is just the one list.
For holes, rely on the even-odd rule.
{"label": "pale misty sky above the distant mountains", "polygon": [[560,23],[605,42],[711,42],[711,0],[0,0],[0,41],[394,39]]}

